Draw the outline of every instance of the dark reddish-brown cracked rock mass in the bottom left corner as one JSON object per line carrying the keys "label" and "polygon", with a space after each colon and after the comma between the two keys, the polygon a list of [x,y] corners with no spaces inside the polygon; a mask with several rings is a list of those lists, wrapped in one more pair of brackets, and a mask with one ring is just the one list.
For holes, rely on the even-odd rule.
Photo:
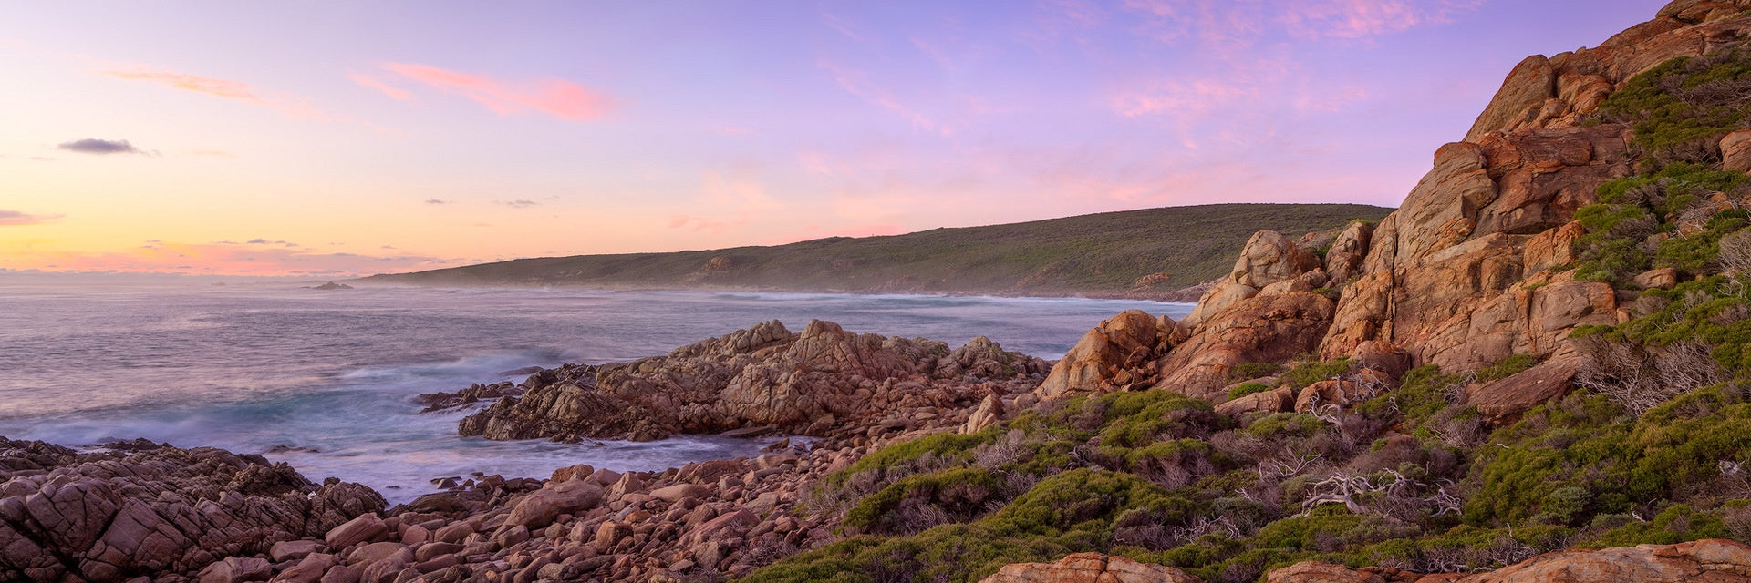
{"label": "dark reddish-brown cracked rock mass in the bottom left corner", "polygon": [[219,560],[266,553],[383,509],[366,487],[317,487],[259,455],[126,446],[77,453],[0,438],[0,579],[173,581],[177,574],[186,581],[203,569],[254,572],[266,560]]}

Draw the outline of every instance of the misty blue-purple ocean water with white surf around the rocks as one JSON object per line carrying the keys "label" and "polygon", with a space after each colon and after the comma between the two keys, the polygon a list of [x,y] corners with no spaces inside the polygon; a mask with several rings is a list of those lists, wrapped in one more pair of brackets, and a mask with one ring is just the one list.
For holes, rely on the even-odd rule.
{"label": "misty blue-purple ocean water with white surf around the rocks", "polygon": [[667,354],[763,320],[958,347],[989,336],[1058,359],[1128,308],[1191,305],[1080,298],[854,296],[711,291],[317,291],[299,284],[68,285],[0,273],[0,436],[91,446],[147,438],[219,446],[336,476],[390,502],[432,478],[555,467],[665,469],[758,453],[767,441],[655,443],[459,438],[466,411],[418,415],[413,397],[520,382],[531,366]]}

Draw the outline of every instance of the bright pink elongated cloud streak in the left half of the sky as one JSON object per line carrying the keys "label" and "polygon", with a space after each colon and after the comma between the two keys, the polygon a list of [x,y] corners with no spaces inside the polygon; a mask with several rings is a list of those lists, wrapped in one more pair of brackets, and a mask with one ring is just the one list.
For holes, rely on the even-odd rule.
{"label": "bright pink elongated cloud streak in the left half of the sky", "polygon": [[499,116],[534,110],[559,119],[590,121],[608,116],[613,107],[602,93],[560,79],[511,84],[431,65],[383,63],[383,68],[434,89],[459,93]]}

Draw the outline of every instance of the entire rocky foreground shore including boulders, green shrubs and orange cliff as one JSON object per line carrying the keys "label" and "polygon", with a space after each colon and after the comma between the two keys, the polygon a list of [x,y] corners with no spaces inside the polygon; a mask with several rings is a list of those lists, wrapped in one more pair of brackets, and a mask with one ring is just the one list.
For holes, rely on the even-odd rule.
{"label": "entire rocky foreground shore including boulders, green shrubs and orange cliff", "polygon": [[1058,362],[765,322],[422,403],[753,459],[385,508],[254,455],[0,441],[0,579],[1751,581],[1747,11],[1525,60],[1399,210],[1257,231],[1187,317]]}

